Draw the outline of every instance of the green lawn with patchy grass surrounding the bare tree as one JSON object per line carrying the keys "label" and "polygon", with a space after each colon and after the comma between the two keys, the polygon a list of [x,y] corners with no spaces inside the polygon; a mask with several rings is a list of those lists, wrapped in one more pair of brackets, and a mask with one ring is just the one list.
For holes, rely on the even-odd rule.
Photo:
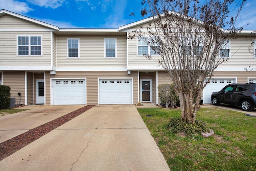
{"label": "green lawn with patchy grass surrounding the bare tree", "polygon": [[[180,109],[138,108],[171,171],[256,171],[256,117],[230,110],[201,108],[197,119],[215,135],[181,137],[166,129]],[[146,116],[152,115],[152,116]]]}

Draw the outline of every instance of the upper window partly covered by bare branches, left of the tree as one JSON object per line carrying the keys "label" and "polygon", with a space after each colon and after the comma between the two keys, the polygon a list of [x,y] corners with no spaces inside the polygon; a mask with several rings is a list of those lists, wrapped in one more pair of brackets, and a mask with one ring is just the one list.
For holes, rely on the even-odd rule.
{"label": "upper window partly covered by bare branches, left of the tree", "polygon": [[150,41],[150,45],[148,45],[148,40],[149,37],[139,37],[138,38],[138,56],[143,56],[143,55],[151,55],[151,56],[158,56],[159,54],[155,51],[157,50],[158,46],[154,44],[153,40]]}

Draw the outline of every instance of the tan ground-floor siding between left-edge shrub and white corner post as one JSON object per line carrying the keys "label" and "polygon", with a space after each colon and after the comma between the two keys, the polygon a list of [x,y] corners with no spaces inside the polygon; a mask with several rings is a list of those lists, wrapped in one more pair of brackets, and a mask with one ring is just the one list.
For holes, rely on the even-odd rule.
{"label": "tan ground-floor siding between left-edge shrub and white corner post", "polygon": [[25,72],[3,72],[3,83],[11,87],[11,97],[16,98],[16,103],[25,105]]}

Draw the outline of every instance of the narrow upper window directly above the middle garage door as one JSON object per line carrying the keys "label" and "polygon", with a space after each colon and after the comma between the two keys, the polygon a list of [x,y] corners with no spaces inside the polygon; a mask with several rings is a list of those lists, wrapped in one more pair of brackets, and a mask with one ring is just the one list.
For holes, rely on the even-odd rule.
{"label": "narrow upper window directly above the middle garage door", "polygon": [[105,58],[116,58],[116,39],[104,39]]}

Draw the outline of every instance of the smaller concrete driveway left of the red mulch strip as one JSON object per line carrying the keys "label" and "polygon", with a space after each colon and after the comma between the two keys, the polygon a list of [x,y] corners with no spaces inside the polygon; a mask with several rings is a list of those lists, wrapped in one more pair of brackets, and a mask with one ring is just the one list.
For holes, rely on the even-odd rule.
{"label": "smaller concrete driveway left of the red mulch strip", "polygon": [[83,106],[84,105],[28,105],[20,107],[20,109],[30,110],[0,117],[0,143]]}

